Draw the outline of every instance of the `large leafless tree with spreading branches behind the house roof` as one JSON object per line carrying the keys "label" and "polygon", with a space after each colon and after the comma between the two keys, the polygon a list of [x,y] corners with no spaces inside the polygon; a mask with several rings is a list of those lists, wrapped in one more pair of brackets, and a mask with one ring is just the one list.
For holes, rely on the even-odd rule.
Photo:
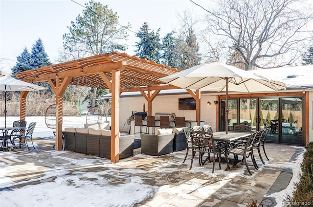
{"label": "large leafless tree with spreading branches behind the house roof", "polygon": [[210,2],[212,9],[193,3],[207,11],[206,31],[227,41],[224,54],[230,64],[253,70],[300,63],[301,52],[313,37],[312,28],[307,28],[313,14],[306,2],[216,0],[216,6]]}

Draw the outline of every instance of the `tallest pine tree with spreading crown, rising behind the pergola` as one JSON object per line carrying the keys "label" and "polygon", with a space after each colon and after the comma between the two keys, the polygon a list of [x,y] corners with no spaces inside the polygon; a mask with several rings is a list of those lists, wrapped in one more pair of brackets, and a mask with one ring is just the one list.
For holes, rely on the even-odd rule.
{"label": "tallest pine tree with spreading crown, rising behind the pergola", "polygon": [[101,55],[113,51],[125,51],[128,34],[127,26],[120,26],[117,13],[99,2],[90,0],[85,3],[83,15],[78,15],[75,22],[67,27],[69,33],[63,35],[64,48],[69,52],[86,56]]}

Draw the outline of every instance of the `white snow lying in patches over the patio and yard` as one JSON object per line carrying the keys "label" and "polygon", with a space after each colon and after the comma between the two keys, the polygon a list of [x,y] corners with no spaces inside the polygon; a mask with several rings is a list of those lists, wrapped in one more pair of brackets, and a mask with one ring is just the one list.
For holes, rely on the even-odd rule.
{"label": "white snow lying in patches over the patio and yard", "polygon": [[[3,117],[0,117],[1,123],[3,123]],[[16,120],[17,117],[9,117],[8,122],[11,122],[12,120]],[[84,122],[86,121],[86,117],[64,117],[66,120],[64,120],[64,123],[67,124],[67,127],[73,127],[74,124],[76,126],[83,126]],[[49,135],[47,133],[40,133],[44,132],[46,130],[45,128],[45,122],[43,116],[33,116],[33,117],[26,117],[26,121],[30,123],[33,120],[37,120],[38,125],[35,127],[35,132],[33,137],[45,137],[49,139]],[[73,126],[72,126],[73,125]],[[35,133],[34,132],[34,133]],[[51,133],[52,135],[52,133]],[[51,137],[50,137],[51,138]],[[37,147],[37,144],[35,143],[35,148]],[[292,148],[302,148],[300,146],[291,146]],[[4,160],[11,160],[11,161],[18,161],[20,158],[19,156],[24,156],[24,153],[14,153],[12,151],[4,152],[2,159]],[[29,152],[33,156],[38,156],[39,162],[45,163],[45,157],[36,154],[37,150],[33,150]],[[1,207],[12,207],[12,206],[27,206],[27,207],[48,207],[48,206],[55,206],[55,207],[61,207],[61,206],[73,206],[73,207],[103,207],[103,204],[106,204],[105,206],[110,207],[129,207],[133,206],[134,203],[138,201],[145,200],[146,198],[153,196],[158,193],[165,193],[167,195],[180,195],[182,197],[191,196],[186,195],[186,189],[194,190],[194,193],[197,194],[199,198],[205,198],[208,195],[214,193],[215,191],[218,191],[220,188],[223,188],[224,185],[230,186],[229,183],[230,180],[236,179],[235,177],[244,177],[250,182],[251,179],[253,179],[256,176],[256,173],[262,173],[263,168],[265,170],[267,168],[290,168],[293,171],[293,175],[290,181],[290,184],[287,188],[275,192],[273,194],[270,194],[269,197],[275,198],[275,201],[277,203],[276,207],[280,207],[282,204],[282,201],[284,201],[286,195],[291,195],[292,191],[294,190],[294,183],[297,183],[299,181],[299,176],[296,176],[300,172],[300,164],[303,160],[303,153],[299,154],[299,156],[296,158],[295,161],[292,162],[286,162],[284,160],[280,160],[279,162],[269,163],[267,162],[266,165],[259,165],[259,170],[253,170],[253,175],[245,175],[244,171],[246,170],[245,166],[242,168],[236,168],[236,170],[225,171],[225,170],[215,170],[214,174],[211,173],[211,169],[208,170],[208,168],[203,167],[197,167],[196,162],[194,167],[192,168],[192,171],[194,173],[200,172],[200,173],[206,173],[208,176],[222,176],[224,177],[222,180],[220,180],[218,183],[214,183],[212,185],[202,185],[201,182],[193,182],[193,185],[163,185],[163,186],[154,186],[154,185],[147,185],[144,184],[145,176],[141,177],[138,175],[141,175],[141,173],[145,173],[142,171],[143,169],[139,168],[127,168],[127,160],[123,159],[120,161],[119,166],[125,166],[125,168],[121,168],[119,166],[115,166],[110,162],[108,159],[102,159],[97,157],[91,157],[91,158],[84,158],[84,159],[75,159],[75,157],[66,157],[62,156],[60,154],[63,153],[72,153],[70,151],[47,151],[47,156],[51,159],[60,159],[60,165],[53,168],[46,168],[41,169],[45,173],[42,176],[33,177],[32,181],[36,183],[36,185],[23,185],[25,181],[20,180],[17,181],[12,180],[12,178],[8,177],[7,174],[14,174],[16,173],[16,170],[18,166],[12,167],[10,163],[2,162],[0,163],[0,189],[6,188],[9,184],[15,184],[15,185],[21,185],[21,188],[14,188],[12,190],[2,190],[0,194],[0,206]],[[278,152],[281,153],[281,152]],[[145,154],[136,154],[135,155],[138,159],[140,158],[151,158],[150,155]],[[182,160],[184,158],[184,153],[179,153],[175,155],[178,157],[177,159]],[[68,161],[63,162],[63,159]],[[273,158],[269,156],[269,159],[272,160]],[[124,163],[125,162],[125,163]],[[64,163],[64,164],[62,164]],[[123,165],[124,163],[124,165]],[[187,166],[190,165],[190,160],[187,160],[185,163]],[[105,171],[97,171],[93,172],[92,170],[88,171],[88,173],[84,173],[83,171],[76,170],[74,172],[70,172],[71,166],[73,169],[76,168],[76,166],[81,166],[86,169],[88,168],[96,168],[96,167],[108,167]],[[20,164],[20,167],[22,169],[29,169],[30,171],[34,170],[36,171],[38,166],[36,166],[34,163],[27,163],[22,162]],[[156,170],[156,169],[154,169]],[[164,170],[167,170],[167,172],[175,172],[178,170],[175,167],[166,168]],[[179,170],[182,170],[181,168]],[[185,170],[189,170],[189,168],[185,168]],[[108,182],[107,179],[105,179],[106,176],[103,176],[103,174],[106,174],[107,176],[110,176],[114,174],[116,179],[127,179],[128,182],[123,185],[106,185]],[[125,174],[130,174],[131,176],[125,177]],[[51,177],[55,176],[56,179],[51,182],[41,182],[45,179],[51,179]],[[89,179],[82,179],[82,176]],[[69,178],[70,177],[70,178]],[[65,185],[70,181],[75,185]],[[91,182],[91,179],[94,179],[94,181]],[[135,183],[136,185],[133,185]],[[253,183],[253,182],[252,182]],[[254,183],[255,185],[255,183]],[[101,190],[99,190],[101,189]],[[219,191],[220,192],[220,191]],[[219,197],[221,199],[227,199],[231,196],[236,196],[243,194],[245,192],[243,191],[233,191],[230,192],[227,191],[228,194],[219,194]],[[114,195],[112,197],[112,194]],[[194,195],[194,194],[193,194]],[[86,196],[88,199],[86,199]],[[115,198],[123,198],[123,199],[115,199]],[[19,198],[19,199],[17,199]],[[155,199],[158,197],[156,196]],[[25,201],[27,201],[27,205],[25,204]]]}

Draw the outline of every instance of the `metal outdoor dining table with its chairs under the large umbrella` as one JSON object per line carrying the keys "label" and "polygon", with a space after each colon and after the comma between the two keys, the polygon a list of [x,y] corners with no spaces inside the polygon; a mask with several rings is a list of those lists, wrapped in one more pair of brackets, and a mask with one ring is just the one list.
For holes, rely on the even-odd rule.
{"label": "metal outdoor dining table with its chairs under the large umbrella", "polygon": [[[241,131],[239,129],[241,129]],[[226,159],[226,170],[229,169],[229,154],[234,155],[233,166],[237,165],[238,155],[240,155],[243,156],[242,161],[245,161],[246,168],[249,174],[252,175],[246,158],[250,156],[254,168],[258,169],[259,167],[253,154],[253,151],[257,150],[262,163],[265,164],[264,160],[262,159],[260,149],[263,148],[264,154],[268,159],[268,156],[265,152],[264,143],[269,128],[253,133],[251,133],[251,131],[247,132],[247,129],[248,128],[245,128],[244,126],[239,126],[237,132],[229,132],[225,134],[225,132],[210,132],[211,129],[208,126],[195,126],[193,129],[184,128],[183,131],[186,137],[186,142],[188,142],[188,149],[186,151],[186,156],[183,162],[185,162],[187,158],[189,148],[192,151],[190,169],[192,168],[193,159],[196,155],[196,152],[199,152],[199,164],[202,166],[207,160],[211,162],[210,154],[212,154],[212,173],[214,173],[215,160],[217,158],[219,161],[219,168],[221,169],[222,154],[224,154]],[[206,153],[207,157],[203,159],[203,155]]]}

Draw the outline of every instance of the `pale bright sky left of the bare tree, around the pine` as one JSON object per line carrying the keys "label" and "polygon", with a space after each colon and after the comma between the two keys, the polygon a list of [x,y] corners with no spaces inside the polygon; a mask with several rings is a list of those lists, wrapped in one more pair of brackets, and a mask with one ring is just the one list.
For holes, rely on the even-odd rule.
{"label": "pale bright sky left of the bare tree, around the pine", "polygon": [[[84,5],[86,0],[75,0]],[[97,0],[119,16],[119,23],[131,23],[128,31],[129,55],[134,55],[137,32],[147,21],[151,30],[160,28],[160,37],[175,30],[178,14],[186,9],[204,14],[204,11],[190,0]],[[198,0],[199,1],[199,0]],[[197,2],[197,1],[196,1]],[[68,33],[67,26],[75,22],[78,14],[85,8],[72,0],[0,0],[0,69],[11,74],[10,69],[16,64],[27,47],[41,38],[50,61],[56,63],[58,51],[63,47],[62,36]]]}

